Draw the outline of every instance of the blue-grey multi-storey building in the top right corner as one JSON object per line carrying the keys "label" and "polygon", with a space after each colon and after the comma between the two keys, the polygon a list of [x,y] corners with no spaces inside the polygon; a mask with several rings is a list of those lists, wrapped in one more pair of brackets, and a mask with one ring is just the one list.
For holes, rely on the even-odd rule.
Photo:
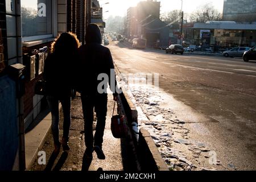
{"label": "blue-grey multi-storey building in the top right corner", "polygon": [[256,22],[256,1],[224,0],[223,20]]}

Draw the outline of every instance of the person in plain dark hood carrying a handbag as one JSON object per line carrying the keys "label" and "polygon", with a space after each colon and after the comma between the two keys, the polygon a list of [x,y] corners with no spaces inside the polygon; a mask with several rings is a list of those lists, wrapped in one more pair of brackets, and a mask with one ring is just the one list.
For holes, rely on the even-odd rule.
{"label": "person in plain dark hood carrying a handbag", "polygon": [[[108,93],[106,88],[102,93],[102,82],[100,75],[108,76],[105,80],[107,86],[113,92],[114,100],[117,100],[115,92],[116,81],[114,73],[114,64],[109,48],[101,45],[101,31],[97,24],[89,24],[85,35],[86,44],[79,48],[79,79],[80,92],[82,101],[82,110],[84,113],[84,130],[85,130],[85,154],[92,158],[93,150],[96,151],[99,159],[105,159],[102,151],[103,135],[106,123],[106,113],[108,104]],[[111,86],[112,85],[112,86]],[[95,108],[97,115],[96,133],[93,137],[93,109]],[[94,142],[94,143],[93,143]],[[94,146],[93,146],[94,144]]]}

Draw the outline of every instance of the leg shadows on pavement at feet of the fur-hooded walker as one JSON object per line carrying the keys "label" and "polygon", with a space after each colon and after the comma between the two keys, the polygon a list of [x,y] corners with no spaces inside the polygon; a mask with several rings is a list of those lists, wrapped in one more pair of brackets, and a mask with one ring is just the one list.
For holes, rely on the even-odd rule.
{"label": "leg shadows on pavement at feet of the fur-hooded walker", "polygon": [[[53,164],[55,160],[57,159],[58,154],[55,154],[52,152],[52,155],[49,158],[49,161],[47,163],[46,168],[44,168],[44,171],[51,171]],[[65,160],[68,158],[68,152],[63,152],[60,156],[60,159],[58,160],[55,167],[52,169],[52,171],[60,171],[61,167],[63,167],[63,164],[65,163]]]}

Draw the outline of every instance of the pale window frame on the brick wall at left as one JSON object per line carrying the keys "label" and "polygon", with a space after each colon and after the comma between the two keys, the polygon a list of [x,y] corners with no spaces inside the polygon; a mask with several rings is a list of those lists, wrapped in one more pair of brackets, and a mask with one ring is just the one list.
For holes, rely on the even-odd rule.
{"label": "pale window frame on the brick wall at left", "polygon": [[55,10],[57,11],[54,0],[51,0],[51,6],[52,6],[51,7],[51,11],[52,11],[51,12],[52,13],[52,17],[51,17],[51,19],[52,19],[52,28],[51,28],[52,29],[52,34],[25,36],[25,37],[22,36],[22,43],[32,42],[32,41],[35,41],[35,40],[42,40],[42,39],[47,39],[47,38],[53,38],[54,37],[54,35],[55,35],[55,32],[54,32],[55,31],[55,28],[54,28],[55,24],[54,23],[56,22],[54,12],[55,12]]}

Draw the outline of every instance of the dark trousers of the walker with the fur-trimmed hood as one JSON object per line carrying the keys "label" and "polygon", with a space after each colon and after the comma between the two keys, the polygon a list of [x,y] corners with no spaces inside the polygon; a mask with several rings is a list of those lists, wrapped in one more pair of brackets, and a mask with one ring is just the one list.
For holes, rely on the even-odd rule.
{"label": "dark trousers of the walker with the fur-trimmed hood", "polygon": [[63,99],[54,97],[54,96],[47,96],[47,101],[49,108],[52,114],[52,135],[54,143],[59,142],[59,101],[63,108],[63,138],[69,137],[69,129],[71,125],[71,114],[70,114],[70,107],[71,107],[71,97],[65,97]]}

